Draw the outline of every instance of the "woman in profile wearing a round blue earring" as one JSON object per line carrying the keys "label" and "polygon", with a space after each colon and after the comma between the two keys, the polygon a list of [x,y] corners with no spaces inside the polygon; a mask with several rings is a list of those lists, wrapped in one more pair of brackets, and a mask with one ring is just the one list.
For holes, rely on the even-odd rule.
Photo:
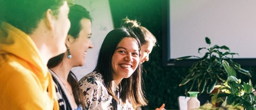
{"label": "woman in profile wearing a round blue earring", "polygon": [[51,58],[47,64],[55,82],[60,110],[81,110],[83,93],[72,67],[83,66],[91,43],[92,23],[89,11],[77,4],[70,7],[68,18],[71,27],[66,37],[65,53]]}

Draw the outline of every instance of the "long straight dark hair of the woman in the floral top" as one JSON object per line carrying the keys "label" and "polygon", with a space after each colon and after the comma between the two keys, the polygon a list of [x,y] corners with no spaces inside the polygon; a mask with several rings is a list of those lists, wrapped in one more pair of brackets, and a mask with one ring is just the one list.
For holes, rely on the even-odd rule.
{"label": "long straight dark hair of the woman in the floral top", "polygon": [[[139,38],[129,29],[122,27],[110,31],[105,37],[98,57],[98,63],[94,71],[98,71],[104,78],[107,91],[114,99],[118,100],[115,96],[113,88],[113,71],[112,71],[112,56],[116,50],[117,45],[124,37],[132,37],[137,40],[140,52]],[[126,99],[130,103],[136,106],[147,105],[147,100],[144,97],[143,90],[141,88],[141,64],[135,70],[135,72],[129,78],[124,78],[121,83],[120,98],[125,103]],[[118,100],[119,101],[119,100]]]}

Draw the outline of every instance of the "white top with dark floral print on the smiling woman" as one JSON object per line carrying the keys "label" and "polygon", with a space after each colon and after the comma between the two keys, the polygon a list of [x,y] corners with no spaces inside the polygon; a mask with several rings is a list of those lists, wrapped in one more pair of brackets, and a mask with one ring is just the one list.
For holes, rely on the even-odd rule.
{"label": "white top with dark floral print on the smiling woman", "polygon": [[[108,94],[103,81],[103,76],[99,72],[92,72],[81,78],[80,88],[83,91],[85,106],[84,110],[114,110],[114,99]],[[119,91],[116,91],[119,98]],[[117,102],[117,110],[133,110],[133,106],[126,100],[126,103]]]}

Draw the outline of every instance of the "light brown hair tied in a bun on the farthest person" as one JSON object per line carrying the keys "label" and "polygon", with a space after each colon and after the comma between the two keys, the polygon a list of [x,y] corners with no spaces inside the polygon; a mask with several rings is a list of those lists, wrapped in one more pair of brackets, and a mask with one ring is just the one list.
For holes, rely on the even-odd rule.
{"label": "light brown hair tied in a bun on the farthest person", "polygon": [[136,34],[136,36],[140,39],[141,45],[144,45],[149,41],[152,41],[154,46],[156,45],[156,37],[146,27],[141,26],[140,22],[137,22],[136,20],[130,20],[127,17],[122,20],[122,26],[130,27],[134,34]]}

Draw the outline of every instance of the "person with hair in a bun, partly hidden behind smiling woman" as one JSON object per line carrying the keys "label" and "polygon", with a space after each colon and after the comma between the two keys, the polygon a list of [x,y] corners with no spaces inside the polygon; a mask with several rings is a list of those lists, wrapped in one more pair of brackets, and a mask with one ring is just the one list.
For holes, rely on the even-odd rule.
{"label": "person with hair in a bun, partly hidden behind smiling woman", "polygon": [[[140,25],[140,22],[136,20],[130,20],[129,18],[124,18],[122,26],[131,28],[140,40],[141,44],[141,56],[140,62],[144,63],[149,61],[149,54],[152,52],[153,47],[156,45],[156,37],[146,28]],[[156,110],[165,110],[165,104]],[[140,107],[137,107],[136,110],[141,110]]]}

